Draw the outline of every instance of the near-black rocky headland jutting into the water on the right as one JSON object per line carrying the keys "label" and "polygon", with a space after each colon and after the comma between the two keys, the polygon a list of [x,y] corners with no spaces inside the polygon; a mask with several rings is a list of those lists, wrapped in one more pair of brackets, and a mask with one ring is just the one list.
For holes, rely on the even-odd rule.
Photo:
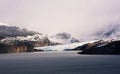
{"label": "near-black rocky headland jutting into the water on the right", "polygon": [[120,54],[120,41],[98,41],[77,47],[80,54]]}

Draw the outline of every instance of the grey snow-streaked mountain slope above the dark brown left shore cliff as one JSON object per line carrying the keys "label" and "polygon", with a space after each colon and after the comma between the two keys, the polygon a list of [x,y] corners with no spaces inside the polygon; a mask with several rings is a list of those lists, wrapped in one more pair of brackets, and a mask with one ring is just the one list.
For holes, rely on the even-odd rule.
{"label": "grey snow-streaked mountain slope above the dark brown left shore cliff", "polygon": [[19,41],[28,41],[33,42],[36,46],[50,45],[48,37],[43,34],[21,27],[2,24],[0,23],[0,43],[12,44]]}

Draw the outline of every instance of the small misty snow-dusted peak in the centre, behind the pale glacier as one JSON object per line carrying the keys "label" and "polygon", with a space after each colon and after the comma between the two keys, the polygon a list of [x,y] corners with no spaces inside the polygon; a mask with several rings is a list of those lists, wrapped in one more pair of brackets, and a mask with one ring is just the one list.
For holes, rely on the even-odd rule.
{"label": "small misty snow-dusted peak in the centre, behind the pale glacier", "polygon": [[63,32],[49,37],[52,43],[58,44],[69,44],[69,43],[78,43],[79,40],[72,37],[71,34]]}

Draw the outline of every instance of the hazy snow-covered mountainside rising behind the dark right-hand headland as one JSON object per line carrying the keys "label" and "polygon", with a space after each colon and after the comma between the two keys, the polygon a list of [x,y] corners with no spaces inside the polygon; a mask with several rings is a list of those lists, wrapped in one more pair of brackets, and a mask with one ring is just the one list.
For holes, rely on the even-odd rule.
{"label": "hazy snow-covered mountainside rising behind the dark right-hand headland", "polygon": [[117,39],[120,38],[120,24],[105,25],[88,35],[80,37],[81,41]]}

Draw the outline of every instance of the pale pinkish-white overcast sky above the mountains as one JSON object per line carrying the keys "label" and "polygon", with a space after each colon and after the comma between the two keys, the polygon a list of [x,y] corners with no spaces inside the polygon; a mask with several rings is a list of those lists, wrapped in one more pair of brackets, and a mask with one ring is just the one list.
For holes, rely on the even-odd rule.
{"label": "pale pinkish-white overcast sky above the mountains", "polygon": [[120,23],[120,0],[0,0],[0,22],[74,36]]}

